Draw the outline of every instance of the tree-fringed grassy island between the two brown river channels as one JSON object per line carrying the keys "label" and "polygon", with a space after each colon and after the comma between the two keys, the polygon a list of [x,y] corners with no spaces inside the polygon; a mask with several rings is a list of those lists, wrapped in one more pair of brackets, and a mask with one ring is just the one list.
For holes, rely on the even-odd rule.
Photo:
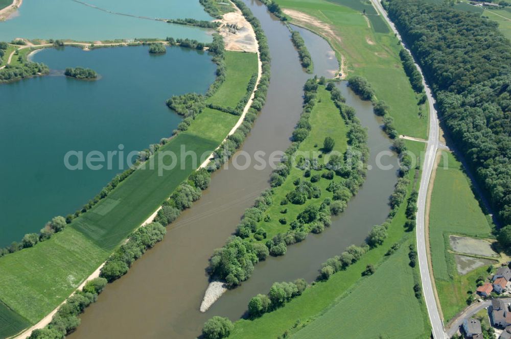
{"label": "tree-fringed grassy island between the two brown river channels", "polygon": [[[329,89],[318,85],[317,78],[307,81],[293,143],[270,178],[273,189],[245,211],[236,236],[211,257],[209,273],[229,286],[248,279],[268,254],[284,255],[288,245],[329,227],[330,215],[342,212],[362,184],[366,131],[339,90]],[[335,140],[333,154],[318,148],[326,136]],[[296,152],[307,156],[295,157]]]}

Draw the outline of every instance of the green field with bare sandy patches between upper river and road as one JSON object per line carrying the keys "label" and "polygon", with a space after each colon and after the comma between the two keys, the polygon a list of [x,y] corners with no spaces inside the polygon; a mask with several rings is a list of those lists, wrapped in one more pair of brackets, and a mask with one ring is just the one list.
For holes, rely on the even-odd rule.
{"label": "green field with bare sandy patches between upper river and road", "polygon": [[360,75],[373,84],[378,99],[385,100],[390,106],[389,113],[400,134],[427,138],[428,110],[423,105],[423,116],[419,116],[418,97],[399,58],[398,39],[380,16],[361,14],[363,8],[371,5],[363,0],[276,2],[283,9],[300,11],[327,23],[337,38],[312,22],[291,20],[326,37],[336,51],[337,59],[340,61],[341,55],[345,58],[348,77]]}

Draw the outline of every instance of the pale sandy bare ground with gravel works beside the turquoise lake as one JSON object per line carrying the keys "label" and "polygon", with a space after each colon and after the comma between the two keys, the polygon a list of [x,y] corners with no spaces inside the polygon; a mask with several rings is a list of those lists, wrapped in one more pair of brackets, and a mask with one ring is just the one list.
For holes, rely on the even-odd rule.
{"label": "pale sandy bare ground with gravel works beside the turquoise lake", "polygon": [[222,24],[219,33],[224,39],[225,49],[255,53],[258,50],[258,44],[254,30],[241,11],[235,8],[235,12],[225,13],[223,19],[217,20]]}

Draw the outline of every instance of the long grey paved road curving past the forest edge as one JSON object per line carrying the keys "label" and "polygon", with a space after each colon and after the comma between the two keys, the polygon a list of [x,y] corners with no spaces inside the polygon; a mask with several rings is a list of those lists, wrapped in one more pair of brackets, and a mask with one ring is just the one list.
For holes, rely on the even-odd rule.
{"label": "long grey paved road curving past the forest edge", "polygon": [[[396,26],[394,26],[393,22],[387,16],[387,12],[383,9],[378,0],[371,0],[373,5],[378,9],[383,18],[388,22],[390,28],[400,41],[401,35],[399,34]],[[410,52],[407,47],[401,42],[403,47]],[[436,304],[435,291],[433,290],[433,283],[431,282],[431,274],[429,272],[428,265],[428,254],[426,252],[426,234],[425,234],[425,216],[426,216],[426,197],[428,192],[428,185],[431,178],[431,173],[433,172],[434,164],[435,164],[435,155],[438,151],[438,147],[440,146],[440,142],[438,141],[438,117],[435,109],[435,101],[433,99],[433,95],[431,94],[431,89],[427,86],[424,81],[424,74],[419,65],[415,63],[415,66],[421,72],[423,78],[424,89],[426,91],[426,95],[428,96],[428,104],[429,104],[429,136],[427,140],[426,153],[424,156],[424,164],[422,168],[422,177],[421,177],[421,185],[419,187],[419,198],[417,199],[417,226],[416,226],[416,235],[417,235],[417,254],[419,257],[419,269],[421,272],[421,282],[422,289],[424,293],[424,299],[426,300],[426,306],[428,308],[429,320],[431,323],[431,331],[433,333],[434,339],[445,339],[447,338],[447,334],[444,329],[444,323],[442,322],[442,318],[440,318],[440,313],[438,312],[438,306]]]}

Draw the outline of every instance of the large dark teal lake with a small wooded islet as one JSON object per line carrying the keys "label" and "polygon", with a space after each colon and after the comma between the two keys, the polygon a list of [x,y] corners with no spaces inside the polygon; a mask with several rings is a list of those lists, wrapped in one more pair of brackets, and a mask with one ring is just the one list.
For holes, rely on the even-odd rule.
{"label": "large dark teal lake with a small wooded islet", "polygon": [[[33,60],[47,64],[51,75],[0,85],[0,246],[39,231],[55,215],[73,213],[122,172],[118,157],[112,169],[70,171],[68,151],[82,151],[85,160],[90,151],[106,154],[123,144],[127,155],[169,137],[181,118],[165,101],[204,93],[216,71],[207,53],[181,47],[161,56],[149,55],[147,46],[66,47],[43,50]],[[62,76],[65,67],[76,66],[101,78]]]}

